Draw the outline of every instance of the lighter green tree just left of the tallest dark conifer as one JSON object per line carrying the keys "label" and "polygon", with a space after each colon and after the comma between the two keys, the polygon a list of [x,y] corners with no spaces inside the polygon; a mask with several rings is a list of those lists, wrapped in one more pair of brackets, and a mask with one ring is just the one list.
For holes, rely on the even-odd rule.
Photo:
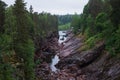
{"label": "lighter green tree just left of the tallest dark conifer", "polygon": [[13,6],[10,6],[6,9],[5,12],[5,34],[9,35],[12,39],[11,48],[14,47],[14,40],[16,39],[16,21],[13,14]]}

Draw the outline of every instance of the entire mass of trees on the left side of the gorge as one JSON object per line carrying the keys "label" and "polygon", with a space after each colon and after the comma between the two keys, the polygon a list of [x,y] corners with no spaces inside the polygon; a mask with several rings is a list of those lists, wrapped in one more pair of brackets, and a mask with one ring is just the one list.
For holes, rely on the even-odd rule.
{"label": "entire mass of trees on the left side of the gorge", "polygon": [[34,53],[42,46],[38,43],[57,32],[55,15],[25,6],[24,0],[10,7],[0,0],[0,80],[34,80]]}

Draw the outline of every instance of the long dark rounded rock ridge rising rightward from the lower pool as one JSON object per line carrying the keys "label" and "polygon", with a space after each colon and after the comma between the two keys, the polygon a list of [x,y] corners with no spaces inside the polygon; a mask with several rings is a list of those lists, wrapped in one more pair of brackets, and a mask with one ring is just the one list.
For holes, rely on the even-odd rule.
{"label": "long dark rounded rock ridge rising rightward from the lower pool", "polygon": [[74,55],[70,55],[69,57],[60,60],[56,67],[62,69],[71,64],[76,64],[79,67],[87,66],[96,60],[97,57],[99,57],[104,47],[104,43],[102,43],[92,50],[84,51],[81,53],[77,52]]}

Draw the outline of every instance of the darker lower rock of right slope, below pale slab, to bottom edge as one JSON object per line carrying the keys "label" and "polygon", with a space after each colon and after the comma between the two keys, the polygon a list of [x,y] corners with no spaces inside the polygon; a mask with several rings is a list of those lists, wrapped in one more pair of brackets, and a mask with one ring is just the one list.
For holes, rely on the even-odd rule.
{"label": "darker lower rock of right slope, below pale slab, to bottom edge", "polygon": [[[69,45],[71,44],[75,42]],[[66,77],[61,75],[60,80],[69,80],[71,79],[69,77],[72,77],[71,80],[120,80],[120,58],[112,57],[105,51],[104,42],[96,44],[93,49],[87,51],[81,52],[74,49],[69,55],[62,57],[56,67],[60,69],[59,73],[66,74]]]}

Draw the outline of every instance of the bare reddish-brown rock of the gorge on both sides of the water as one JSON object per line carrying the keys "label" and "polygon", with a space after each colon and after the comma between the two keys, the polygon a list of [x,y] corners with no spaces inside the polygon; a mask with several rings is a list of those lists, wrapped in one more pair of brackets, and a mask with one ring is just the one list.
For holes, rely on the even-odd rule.
{"label": "bare reddish-brown rock of the gorge on both sides of the water", "polygon": [[[66,34],[67,39],[60,45],[56,37],[48,41],[52,47],[50,50],[55,52],[50,54],[47,50],[39,56],[43,61],[36,66],[37,80],[120,80],[120,58],[111,56],[105,50],[104,41],[82,51],[84,37],[78,37],[72,31]],[[55,55],[60,61],[55,65],[57,70],[52,71],[49,61]]]}

